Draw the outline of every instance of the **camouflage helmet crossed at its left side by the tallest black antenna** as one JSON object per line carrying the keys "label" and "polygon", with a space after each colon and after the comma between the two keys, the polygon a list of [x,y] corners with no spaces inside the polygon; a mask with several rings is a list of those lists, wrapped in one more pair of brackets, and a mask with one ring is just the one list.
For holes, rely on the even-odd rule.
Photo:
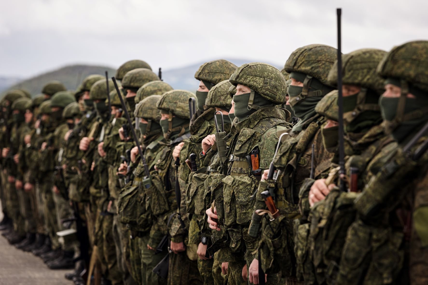
{"label": "camouflage helmet crossed at its left side by the tallest black antenna", "polygon": [[[342,84],[357,85],[383,93],[383,78],[376,73],[377,65],[386,51],[363,48],[342,55]],[[327,77],[332,86],[337,85],[337,60]]]}

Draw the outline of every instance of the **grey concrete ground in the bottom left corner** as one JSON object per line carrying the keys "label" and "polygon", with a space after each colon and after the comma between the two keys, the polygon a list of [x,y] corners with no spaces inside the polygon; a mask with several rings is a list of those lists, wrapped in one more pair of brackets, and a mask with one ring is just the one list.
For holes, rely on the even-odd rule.
{"label": "grey concrete ground in the bottom left corner", "polygon": [[48,269],[42,259],[16,249],[0,235],[0,285],[73,285],[64,278],[67,272],[71,270]]}

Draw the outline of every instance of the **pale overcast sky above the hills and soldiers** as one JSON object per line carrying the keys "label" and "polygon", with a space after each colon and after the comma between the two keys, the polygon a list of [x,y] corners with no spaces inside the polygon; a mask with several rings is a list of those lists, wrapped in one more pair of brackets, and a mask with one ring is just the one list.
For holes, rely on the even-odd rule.
{"label": "pale overcast sky above the hills and soldiers", "polygon": [[221,57],[283,65],[297,47],[350,52],[428,39],[424,0],[1,0],[0,75],[29,77],[72,63],[164,70]]}

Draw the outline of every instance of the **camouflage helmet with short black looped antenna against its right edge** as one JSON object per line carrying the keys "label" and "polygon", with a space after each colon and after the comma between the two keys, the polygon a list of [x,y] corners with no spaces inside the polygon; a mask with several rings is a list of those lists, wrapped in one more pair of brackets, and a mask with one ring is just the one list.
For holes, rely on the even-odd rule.
{"label": "camouflage helmet with short black looped antenna against its right edge", "polygon": [[160,97],[156,107],[183,119],[190,119],[189,99],[195,94],[187,90],[171,90]]}

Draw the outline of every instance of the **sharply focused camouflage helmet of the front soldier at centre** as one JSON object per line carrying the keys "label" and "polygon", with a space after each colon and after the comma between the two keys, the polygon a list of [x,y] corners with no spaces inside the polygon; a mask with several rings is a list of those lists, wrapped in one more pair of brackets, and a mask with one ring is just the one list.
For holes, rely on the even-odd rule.
{"label": "sharply focused camouflage helmet of the front soldier at centre", "polygon": [[281,104],[285,100],[284,75],[267,63],[251,62],[241,65],[230,77],[230,83],[234,86],[247,86],[275,104]]}

